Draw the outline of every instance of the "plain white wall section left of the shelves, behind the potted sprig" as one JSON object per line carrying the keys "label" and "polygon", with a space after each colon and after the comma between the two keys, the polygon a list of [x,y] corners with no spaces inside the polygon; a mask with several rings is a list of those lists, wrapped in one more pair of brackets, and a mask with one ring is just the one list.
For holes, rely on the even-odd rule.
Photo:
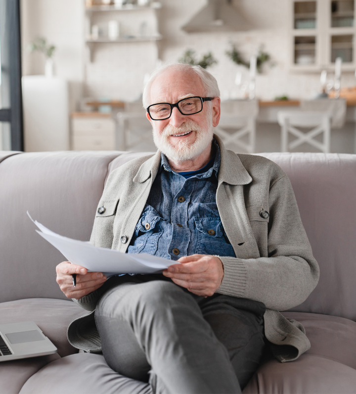
{"label": "plain white wall section left of the shelves, behind the potted sprig", "polygon": [[69,81],[70,109],[84,81],[83,0],[21,0],[22,74],[44,74],[45,56],[29,53],[29,44],[45,37],[56,46],[56,75]]}

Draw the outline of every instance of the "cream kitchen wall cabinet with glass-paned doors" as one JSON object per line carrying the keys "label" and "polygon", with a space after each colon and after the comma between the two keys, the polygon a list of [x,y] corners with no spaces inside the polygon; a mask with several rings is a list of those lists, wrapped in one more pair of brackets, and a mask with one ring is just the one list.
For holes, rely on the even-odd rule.
{"label": "cream kitchen wall cabinet with glass-paned doors", "polygon": [[291,71],[332,71],[337,57],[355,70],[355,0],[290,1],[290,16]]}

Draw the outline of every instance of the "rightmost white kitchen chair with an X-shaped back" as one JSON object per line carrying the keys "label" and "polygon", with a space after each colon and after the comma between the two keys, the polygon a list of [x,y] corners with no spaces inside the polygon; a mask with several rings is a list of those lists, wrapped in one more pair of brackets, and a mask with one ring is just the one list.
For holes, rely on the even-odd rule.
{"label": "rightmost white kitchen chair with an X-shaped back", "polygon": [[[330,112],[322,111],[279,111],[278,123],[281,126],[281,151],[289,152],[307,143],[324,153],[330,152]],[[297,127],[312,127],[312,130],[303,132]],[[288,142],[289,134],[296,137],[291,143]],[[322,134],[322,142],[315,137]]]}

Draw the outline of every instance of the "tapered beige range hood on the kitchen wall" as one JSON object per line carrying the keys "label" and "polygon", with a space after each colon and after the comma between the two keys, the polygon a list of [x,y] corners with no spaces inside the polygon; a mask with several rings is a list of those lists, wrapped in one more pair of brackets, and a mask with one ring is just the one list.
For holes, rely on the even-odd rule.
{"label": "tapered beige range hood on the kitchen wall", "polygon": [[187,33],[228,32],[251,29],[231,0],[208,0],[208,3],[188,23],[182,26]]}

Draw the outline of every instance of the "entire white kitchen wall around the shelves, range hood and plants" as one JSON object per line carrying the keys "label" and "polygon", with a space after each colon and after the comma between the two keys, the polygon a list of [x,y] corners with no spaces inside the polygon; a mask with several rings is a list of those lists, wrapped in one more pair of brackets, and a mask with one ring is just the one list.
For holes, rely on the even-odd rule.
{"label": "entire white kitchen wall around the shelves, range hood and plants", "polygon": [[[190,48],[198,55],[212,51],[219,63],[210,68],[216,76],[223,96],[236,95],[236,72],[248,71],[235,65],[225,54],[233,42],[246,59],[261,45],[271,55],[275,67],[264,67],[257,76],[256,93],[260,99],[312,98],[320,89],[319,74],[289,73],[290,0],[234,0],[254,28],[247,32],[194,33],[180,29],[206,0],[161,0],[159,30],[163,40],[154,43],[95,44],[92,63],[85,64],[84,0],[22,0],[23,74],[44,72],[44,57],[29,54],[28,44],[45,36],[57,47],[57,75],[71,82],[78,96],[78,83],[84,81],[86,96],[134,100],[141,94],[143,77],[156,66],[156,59],[176,61]],[[115,16],[113,16],[115,17]],[[157,48],[158,47],[158,48]],[[344,73],[342,85],[355,85],[353,73]],[[73,96],[73,95],[72,95]],[[77,99],[77,97],[75,97]]]}

